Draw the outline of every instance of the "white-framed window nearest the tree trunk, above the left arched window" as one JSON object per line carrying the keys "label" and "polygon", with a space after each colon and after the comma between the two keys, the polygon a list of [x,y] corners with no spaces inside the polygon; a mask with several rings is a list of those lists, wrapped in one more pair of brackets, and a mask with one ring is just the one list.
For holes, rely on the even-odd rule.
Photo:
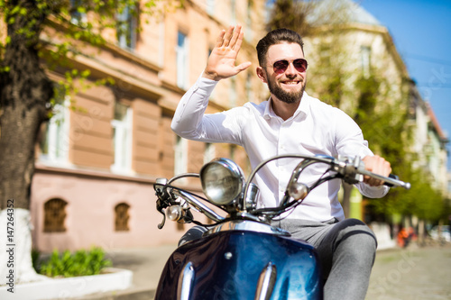
{"label": "white-framed window nearest the tree trunk, above the left arched window", "polygon": [[66,163],[69,159],[69,95],[64,88],[55,88],[55,104],[51,120],[45,124],[41,139],[41,160]]}

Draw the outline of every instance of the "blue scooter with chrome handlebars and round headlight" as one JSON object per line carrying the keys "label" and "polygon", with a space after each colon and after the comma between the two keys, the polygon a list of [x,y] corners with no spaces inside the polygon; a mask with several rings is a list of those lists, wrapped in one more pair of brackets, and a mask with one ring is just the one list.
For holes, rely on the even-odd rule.
{"label": "blue scooter with chrome handlebars and round headlight", "polygon": [[[287,158],[301,160],[291,174],[281,204],[257,208],[259,189],[252,183],[253,177],[267,163]],[[328,175],[309,186],[299,182],[302,171],[317,163],[328,165]],[[300,205],[316,186],[334,178],[355,184],[364,176],[410,188],[409,183],[397,177],[366,171],[359,158],[304,155],[267,159],[247,181],[242,169],[230,159],[214,159],[199,174],[157,179],[157,210],[163,214],[159,228],[167,215],[171,221],[196,223],[207,231],[172,253],[162,271],[155,300],[322,299],[323,278],[316,250],[305,241],[291,239],[290,232],[270,223]],[[199,177],[207,198],[172,185],[184,177]],[[224,211],[226,217],[206,204]],[[191,210],[205,214],[213,223],[198,223]]]}

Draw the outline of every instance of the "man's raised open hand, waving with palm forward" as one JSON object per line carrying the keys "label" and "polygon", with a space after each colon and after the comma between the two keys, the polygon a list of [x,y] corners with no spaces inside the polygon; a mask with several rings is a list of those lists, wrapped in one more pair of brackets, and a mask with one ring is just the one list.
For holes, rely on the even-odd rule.
{"label": "man's raised open hand, waving with palm forward", "polygon": [[244,32],[241,31],[240,25],[230,26],[227,31],[221,31],[217,37],[215,48],[208,58],[203,77],[218,81],[233,77],[251,66],[250,61],[235,66],[236,57],[243,42],[243,35]]}

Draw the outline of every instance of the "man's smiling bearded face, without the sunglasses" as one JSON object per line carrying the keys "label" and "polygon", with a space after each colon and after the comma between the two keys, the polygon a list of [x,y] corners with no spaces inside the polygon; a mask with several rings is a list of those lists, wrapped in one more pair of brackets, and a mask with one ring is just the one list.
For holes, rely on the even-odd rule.
{"label": "man's smiling bearded face, without the sunglasses", "polygon": [[[281,102],[292,104],[299,103],[306,88],[307,74],[299,72],[293,65],[295,59],[304,59],[299,44],[281,43],[272,45],[266,55],[266,65],[262,68],[265,80],[272,96]],[[281,74],[274,71],[273,64],[279,60],[290,62],[288,68]]]}

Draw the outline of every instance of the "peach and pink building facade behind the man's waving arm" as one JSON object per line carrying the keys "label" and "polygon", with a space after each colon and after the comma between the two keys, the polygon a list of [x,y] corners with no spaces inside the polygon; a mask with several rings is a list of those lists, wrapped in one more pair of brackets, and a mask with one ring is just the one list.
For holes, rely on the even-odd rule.
{"label": "peach and pink building facade behind the man's waving arm", "polygon": [[[244,26],[241,61],[256,65],[255,44],[262,36],[262,0],[161,1],[143,30],[126,10],[126,26],[106,36],[100,51],[86,47],[73,59],[90,70],[85,88],[61,96],[37,144],[32,182],[32,238],[42,251],[147,247],[174,243],[188,227],[167,222],[155,208],[157,177],[198,172],[204,162],[227,157],[248,169],[244,150],[228,144],[180,139],[170,122],[180,97],[205,68],[217,34],[230,24]],[[173,7],[172,7],[173,6]],[[86,16],[78,15],[80,20]],[[144,16],[140,16],[144,18]],[[48,31],[51,32],[51,31]],[[42,39],[51,41],[48,34]],[[262,83],[249,68],[216,87],[207,113],[262,101]],[[60,82],[64,70],[49,71]],[[97,86],[102,78],[114,83]],[[61,93],[64,94],[64,93]],[[70,109],[70,106],[72,109]],[[185,182],[200,190],[197,182]]]}

